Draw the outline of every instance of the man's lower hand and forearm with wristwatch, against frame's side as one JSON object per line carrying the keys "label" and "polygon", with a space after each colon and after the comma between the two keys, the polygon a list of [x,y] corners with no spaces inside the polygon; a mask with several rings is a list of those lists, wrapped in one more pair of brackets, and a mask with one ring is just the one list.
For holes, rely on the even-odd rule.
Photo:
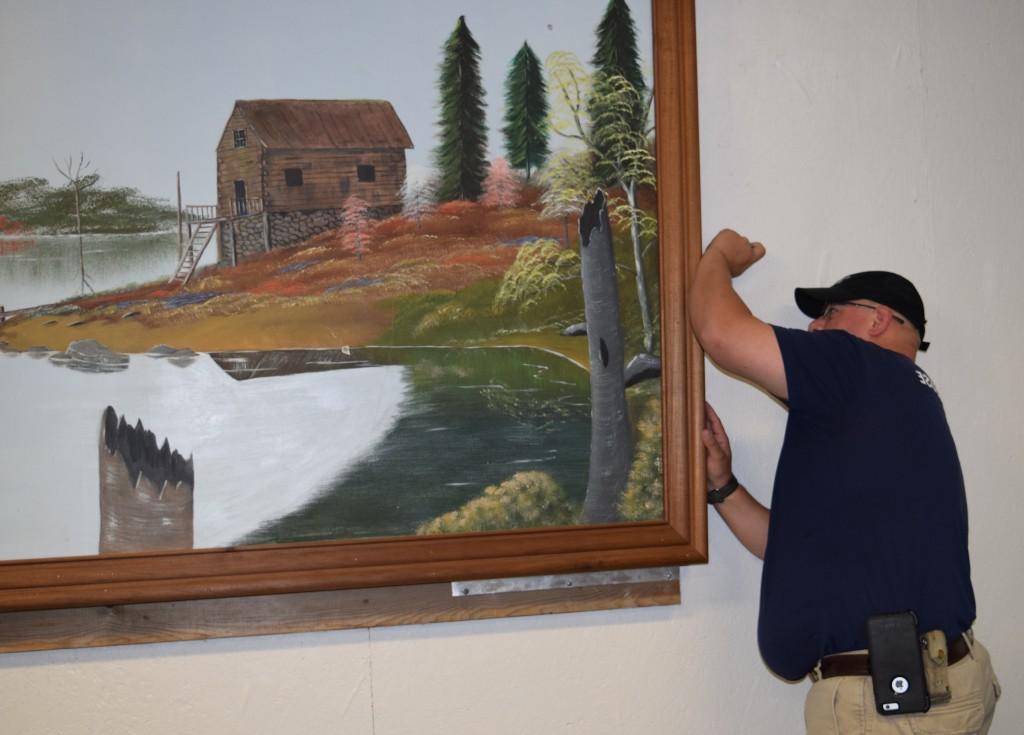
{"label": "man's lower hand and forearm with wristwatch, against frame's side", "polygon": [[[705,428],[700,438],[708,450],[708,484],[721,487],[732,477],[732,449],[722,421],[710,403],[705,403]],[[751,554],[758,559],[765,558],[768,546],[767,508],[740,485],[724,501],[716,503],[715,510]]]}

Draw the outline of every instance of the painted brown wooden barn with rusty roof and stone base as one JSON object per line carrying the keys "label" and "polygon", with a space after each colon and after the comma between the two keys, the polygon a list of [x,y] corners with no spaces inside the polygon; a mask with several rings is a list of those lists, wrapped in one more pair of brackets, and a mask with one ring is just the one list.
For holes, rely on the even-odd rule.
{"label": "painted brown wooden barn with rusty roof and stone base", "polygon": [[221,262],[341,225],[349,197],[377,216],[400,211],[413,142],[391,103],[238,100],[217,145]]}

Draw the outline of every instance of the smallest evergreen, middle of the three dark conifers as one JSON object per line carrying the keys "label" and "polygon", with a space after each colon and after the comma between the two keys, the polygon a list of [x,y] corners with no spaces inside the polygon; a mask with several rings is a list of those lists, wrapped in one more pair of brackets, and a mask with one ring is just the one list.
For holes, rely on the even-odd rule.
{"label": "smallest evergreen, middle of the three dark conifers", "polygon": [[528,43],[512,58],[505,79],[505,149],[513,168],[540,168],[548,157],[548,86]]}

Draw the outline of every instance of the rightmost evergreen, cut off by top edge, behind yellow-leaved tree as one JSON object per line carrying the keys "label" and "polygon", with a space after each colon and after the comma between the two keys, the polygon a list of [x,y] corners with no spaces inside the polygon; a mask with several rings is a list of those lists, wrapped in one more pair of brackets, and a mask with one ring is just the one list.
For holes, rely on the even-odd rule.
{"label": "rightmost evergreen, cut off by top edge, behind yellow-leaved tree", "polygon": [[[591,120],[592,138],[597,146],[598,162],[596,171],[601,182],[613,183],[613,173],[606,161],[611,158],[610,152],[601,141],[608,137],[602,130],[604,121],[609,118],[609,112],[602,106],[601,100],[609,94],[617,94],[609,85],[618,86],[625,79],[636,90],[635,109],[630,112],[630,126],[637,133],[642,133],[646,125],[647,110],[644,104],[647,85],[643,81],[640,69],[640,54],[637,51],[637,31],[633,15],[626,0],[608,0],[608,5],[597,27],[597,51],[591,59],[594,66],[593,94],[588,101],[588,114]],[[620,117],[616,112],[610,117]]]}

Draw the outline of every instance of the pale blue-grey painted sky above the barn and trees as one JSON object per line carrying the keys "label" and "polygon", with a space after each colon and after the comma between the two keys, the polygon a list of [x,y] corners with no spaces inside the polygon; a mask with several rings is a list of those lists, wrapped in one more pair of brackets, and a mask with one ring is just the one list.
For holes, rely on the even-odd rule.
{"label": "pale blue-grey painted sky above the barn and trees", "polygon": [[[436,143],[437,66],[459,15],[480,45],[490,157],[504,82],[527,41],[594,53],[606,0],[0,0],[0,180],[58,178],[84,152],[105,185],[213,204],[215,149],[236,99],[388,99],[416,146]],[[632,0],[645,69],[650,5]]]}

